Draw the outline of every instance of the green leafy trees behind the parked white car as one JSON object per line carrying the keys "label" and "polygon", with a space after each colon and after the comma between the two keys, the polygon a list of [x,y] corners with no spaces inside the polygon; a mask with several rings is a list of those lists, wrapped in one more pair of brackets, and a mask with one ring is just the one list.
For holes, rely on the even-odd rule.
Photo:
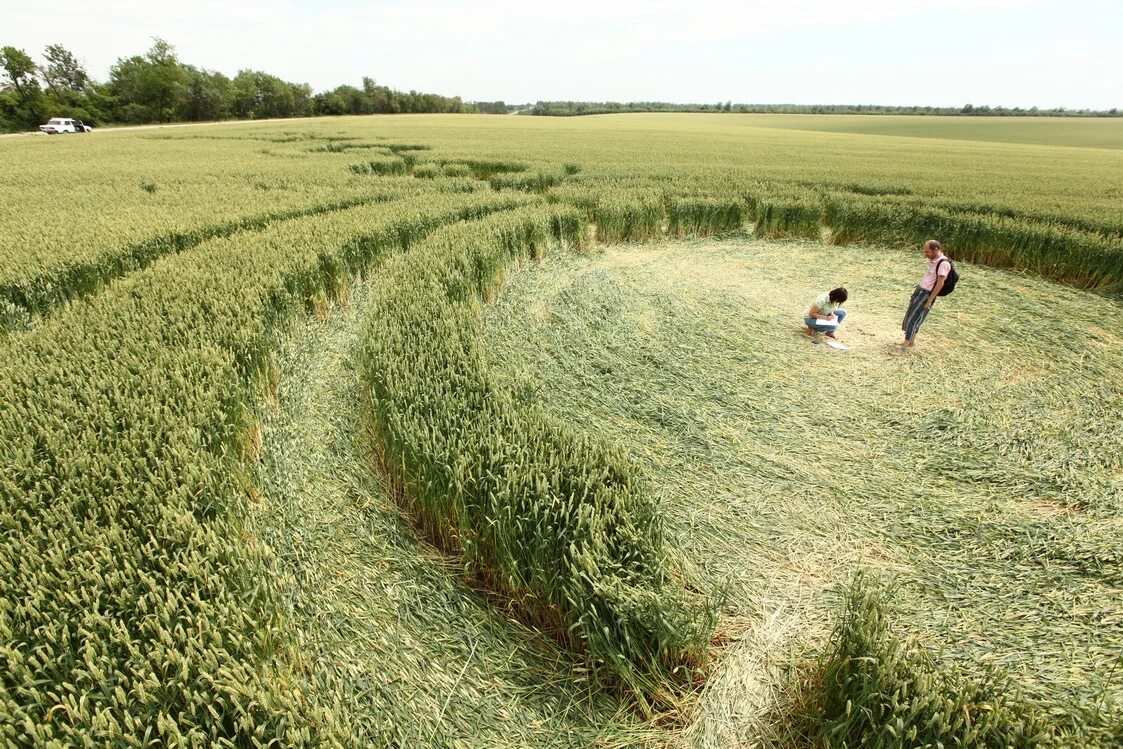
{"label": "green leafy trees behind the parked white car", "polygon": [[42,61],[24,49],[0,47],[0,131],[35,129],[52,117],[91,125],[199,122],[223,119],[405,112],[508,112],[502,101],[464,102],[418,91],[396,91],[363,77],[313,93],[262,71],[234,77],[180,61],[175,48],[154,39],[143,55],[121,57],[109,80],[94,81],[77,57],[58,44]]}

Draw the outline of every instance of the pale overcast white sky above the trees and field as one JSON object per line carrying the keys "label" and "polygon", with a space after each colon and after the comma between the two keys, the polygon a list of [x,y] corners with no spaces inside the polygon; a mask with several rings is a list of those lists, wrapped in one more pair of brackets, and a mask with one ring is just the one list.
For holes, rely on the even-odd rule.
{"label": "pale overcast white sky above the trees and field", "polygon": [[3,0],[0,45],[466,100],[1123,108],[1121,0]]}

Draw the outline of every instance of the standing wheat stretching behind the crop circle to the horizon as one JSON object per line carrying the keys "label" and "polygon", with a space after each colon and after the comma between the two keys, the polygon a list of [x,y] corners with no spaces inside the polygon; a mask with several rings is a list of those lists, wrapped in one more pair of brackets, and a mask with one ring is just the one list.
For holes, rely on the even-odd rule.
{"label": "standing wheat stretching behind the crop circle to the horizon", "polygon": [[[375,165],[367,174],[433,159],[458,162],[462,171],[451,173],[502,185],[513,168],[511,186],[537,180],[556,198],[583,205],[603,195],[602,212],[622,199],[650,211],[673,185],[682,195],[759,204],[778,234],[816,234],[825,212],[830,223],[864,238],[943,228],[962,235],[961,255],[971,245],[990,262],[1061,277],[1093,275],[1083,283],[1114,283],[1102,274],[1120,273],[1123,149],[777,131],[776,122],[823,126],[814,125],[816,117],[770,117],[327,119],[299,129],[279,122],[7,141],[0,146],[0,301],[16,307],[7,317],[39,313],[206,236],[369,197],[372,181],[345,171],[362,166],[364,155]],[[348,121],[362,125],[349,130]],[[1086,125],[1104,131],[1105,143],[1123,140],[1116,120],[1050,122],[1058,145],[1081,144]],[[1042,124],[1023,127],[1041,130]],[[481,158],[495,163],[468,164]],[[567,175],[565,164],[582,172]],[[901,226],[902,216],[919,216],[921,226]],[[995,247],[998,238],[1011,246]],[[1078,264],[1066,262],[1076,255]]]}

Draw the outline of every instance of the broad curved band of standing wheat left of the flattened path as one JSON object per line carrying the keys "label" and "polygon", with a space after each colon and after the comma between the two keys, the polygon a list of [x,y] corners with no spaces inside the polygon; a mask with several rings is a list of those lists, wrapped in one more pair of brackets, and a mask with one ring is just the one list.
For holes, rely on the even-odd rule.
{"label": "broad curved band of standing wheat left of the flattened path", "polygon": [[343,703],[296,675],[270,551],[244,521],[255,377],[308,300],[439,226],[528,200],[433,194],[220,239],[13,341],[0,364],[0,734],[363,745]]}

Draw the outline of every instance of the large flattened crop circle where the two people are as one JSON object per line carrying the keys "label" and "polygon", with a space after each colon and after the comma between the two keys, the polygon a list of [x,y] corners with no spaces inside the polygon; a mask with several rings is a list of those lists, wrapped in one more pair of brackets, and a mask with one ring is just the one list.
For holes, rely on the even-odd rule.
{"label": "large flattened crop circle where the two people are", "polygon": [[[952,248],[953,254],[953,248]],[[821,651],[856,570],[956,678],[1007,675],[1066,741],[1123,711],[1123,309],[962,266],[917,350],[888,356],[920,252],[624,245],[512,275],[485,312],[530,402],[618,440],[668,531],[729,592],[733,642],[688,734],[778,740],[787,665]],[[849,353],[801,332],[850,290]]]}

